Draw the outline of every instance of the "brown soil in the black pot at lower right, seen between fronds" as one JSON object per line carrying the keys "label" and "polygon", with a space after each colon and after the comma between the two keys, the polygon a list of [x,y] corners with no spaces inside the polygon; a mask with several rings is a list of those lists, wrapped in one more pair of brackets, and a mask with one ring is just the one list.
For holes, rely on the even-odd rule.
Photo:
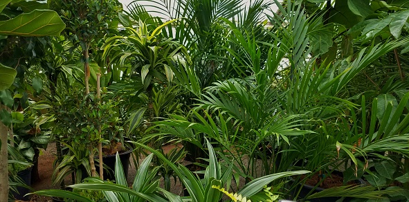
{"label": "brown soil in the black pot at lower right, seen between fronds", "polygon": [[[305,178],[305,176],[301,176],[301,178]],[[311,190],[314,189],[317,183],[320,182],[322,176],[320,174],[316,173],[310,178],[307,179],[305,185],[302,186],[300,194],[298,195],[301,199],[305,199],[307,194],[311,192]],[[340,187],[343,186],[343,174],[342,172],[332,172],[331,176],[327,176],[324,181],[318,187],[316,187],[315,190],[313,190],[312,194],[321,192],[322,190],[329,189],[332,187]],[[347,182],[347,185],[365,185],[365,181],[362,179],[358,179],[356,181],[349,181]],[[337,201],[341,197],[322,197],[318,199],[308,199],[310,202],[326,202],[326,201]],[[351,199],[346,198],[344,201],[350,201]]]}

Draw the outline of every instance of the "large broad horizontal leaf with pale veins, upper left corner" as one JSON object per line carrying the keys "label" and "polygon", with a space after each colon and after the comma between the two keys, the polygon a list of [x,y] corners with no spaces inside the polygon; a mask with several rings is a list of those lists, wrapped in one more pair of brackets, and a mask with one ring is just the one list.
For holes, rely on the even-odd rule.
{"label": "large broad horizontal leaf with pale veins, upper left corner", "polygon": [[0,35],[58,36],[64,28],[64,22],[53,10],[34,10],[13,19],[0,21]]}

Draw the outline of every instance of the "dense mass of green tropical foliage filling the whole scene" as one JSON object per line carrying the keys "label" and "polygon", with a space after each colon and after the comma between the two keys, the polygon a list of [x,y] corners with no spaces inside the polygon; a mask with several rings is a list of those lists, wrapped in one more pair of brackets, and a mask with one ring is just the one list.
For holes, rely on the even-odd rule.
{"label": "dense mass of green tropical foliage filling the whole scene", "polygon": [[[54,183],[75,173],[71,187],[107,201],[409,200],[409,3],[147,1],[0,3],[21,17],[39,12],[28,2],[46,6],[67,24],[61,37],[0,38],[0,100],[11,111],[1,122],[28,160],[57,142]],[[102,98],[89,93],[98,73]],[[146,156],[134,160],[132,187],[120,161],[115,183],[80,183],[93,147],[113,142]],[[171,143],[183,149],[164,154]],[[336,172],[344,186],[302,195]],[[186,196],[170,192],[171,178]],[[358,178],[368,185],[349,185]]]}

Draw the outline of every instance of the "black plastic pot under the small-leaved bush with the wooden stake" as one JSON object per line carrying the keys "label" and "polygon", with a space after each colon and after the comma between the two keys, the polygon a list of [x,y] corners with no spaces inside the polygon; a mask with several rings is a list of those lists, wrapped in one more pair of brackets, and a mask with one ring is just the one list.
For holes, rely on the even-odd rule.
{"label": "black plastic pot under the small-leaved bush with the wooden stake", "polygon": [[[119,154],[120,162],[122,163],[122,167],[124,168],[124,174],[125,178],[128,178],[128,170],[129,170],[129,158],[131,157],[133,149],[127,150],[127,152],[122,152]],[[95,156],[94,159],[98,159],[98,156]],[[102,161],[104,165],[106,165],[109,170],[104,169],[104,180],[115,180],[115,175],[113,174],[113,171],[115,170],[115,161],[116,161],[116,154],[114,155],[109,155],[109,156],[102,156]],[[82,179],[86,178],[87,171],[85,170],[84,167],[82,169]],[[100,167],[98,164],[96,164],[96,171],[100,171]]]}

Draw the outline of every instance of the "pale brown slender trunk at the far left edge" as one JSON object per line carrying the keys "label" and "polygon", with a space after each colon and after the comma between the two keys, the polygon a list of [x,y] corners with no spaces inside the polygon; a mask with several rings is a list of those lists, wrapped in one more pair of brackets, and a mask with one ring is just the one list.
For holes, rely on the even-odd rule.
{"label": "pale brown slender trunk at the far left edge", "polygon": [[[0,110],[3,105],[0,102]],[[0,121],[0,201],[8,201],[8,154],[7,154],[8,127]]]}

